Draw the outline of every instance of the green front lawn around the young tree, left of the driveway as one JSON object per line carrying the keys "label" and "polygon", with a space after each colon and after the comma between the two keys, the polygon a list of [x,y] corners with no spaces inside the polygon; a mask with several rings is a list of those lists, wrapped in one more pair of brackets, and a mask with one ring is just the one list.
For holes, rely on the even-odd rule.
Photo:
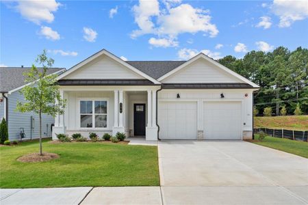
{"label": "green front lawn around the young tree, left of the driveway", "polygon": [[116,143],[43,142],[43,152],[59,159],[40,163],[16,161],[38,152],[38,142],[0,147],[0,187],[158,186],[156,146]]}

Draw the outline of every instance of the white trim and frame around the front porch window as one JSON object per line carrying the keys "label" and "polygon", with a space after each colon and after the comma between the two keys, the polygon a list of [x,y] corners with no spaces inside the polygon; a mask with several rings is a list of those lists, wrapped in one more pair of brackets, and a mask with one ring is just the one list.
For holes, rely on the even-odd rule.
{"label": "white trim and frame around the front porch window", "polygon": [[[107,127],[81,127],[80,122],[80,101],[92,101],[92,126],[95,126],[95,110],[94,101],[106,101],[107,102]],[[109,98],[77,98],[77,128],[80,130],[95,130],[95,131],[106,131],[110,130],[109,120],[110,120],[110,109],[109,109]],[[86,115],[86,114],[85,114]],[[90,115],[90,114],[89,114]],[[102,114],[105,115],[105,114]]]}

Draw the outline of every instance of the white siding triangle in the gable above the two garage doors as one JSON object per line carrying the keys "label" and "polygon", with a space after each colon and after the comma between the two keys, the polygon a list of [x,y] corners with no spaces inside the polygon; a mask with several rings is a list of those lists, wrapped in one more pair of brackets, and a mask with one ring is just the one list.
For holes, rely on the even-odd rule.
{"label": "white siding triangle in the gable above the two garage doors", "polygon": [[205,59],[198,59],[178,72],[171,74],[163,83],[243,83]]}

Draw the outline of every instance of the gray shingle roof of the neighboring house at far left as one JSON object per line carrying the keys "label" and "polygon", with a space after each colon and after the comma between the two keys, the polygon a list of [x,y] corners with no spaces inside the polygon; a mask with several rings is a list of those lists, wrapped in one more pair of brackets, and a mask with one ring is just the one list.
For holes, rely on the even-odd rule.
{"label": "gray shingle roof of the neighboring house at far left", "polygon": [[[0,67],[0,92],[9,92],[25,85],[24,72],[28,72],[31,68],[21,68],[21,67]],[[42,68],[40,68],[42,69]],[[49,68],[48,74],[63,70],[65,68]]]}

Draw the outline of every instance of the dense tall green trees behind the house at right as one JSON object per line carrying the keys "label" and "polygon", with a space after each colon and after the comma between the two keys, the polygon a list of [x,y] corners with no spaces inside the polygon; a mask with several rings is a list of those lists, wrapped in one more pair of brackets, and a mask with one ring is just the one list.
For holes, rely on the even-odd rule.
{"label": "dense tall green trees behind the house at right", "polygon": [[255,93],[258,115],[266,107],[273,115],[280,115],[281,109],[293,115],[296,106],[308,113],[308,49],[280,46],[268,53],[251,51],[242,59],[227,55],[218,61],[261,87]]}

